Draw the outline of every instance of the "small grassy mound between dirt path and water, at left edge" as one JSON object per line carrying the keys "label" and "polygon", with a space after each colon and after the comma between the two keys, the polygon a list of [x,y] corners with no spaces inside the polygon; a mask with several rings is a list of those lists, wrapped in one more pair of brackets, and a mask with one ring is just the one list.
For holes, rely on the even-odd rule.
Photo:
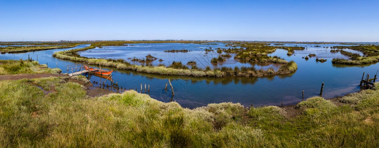
{"label": "small grassy mound between dirt path and water, at left edge", "polygon": [[0,75],[3,74],[58,74],[60,69],[48,68],[37,61],[0,60]]}

